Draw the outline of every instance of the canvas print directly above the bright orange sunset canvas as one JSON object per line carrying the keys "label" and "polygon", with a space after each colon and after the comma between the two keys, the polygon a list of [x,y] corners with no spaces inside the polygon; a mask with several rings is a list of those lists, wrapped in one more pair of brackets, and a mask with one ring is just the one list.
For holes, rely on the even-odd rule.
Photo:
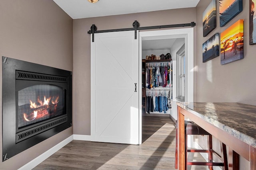
{"label": "canvas print directly above the bright orange sunset canvas", "polygon": [[220,27],[226,25],[230,20],[243,10],[243,0],[219,0]]}

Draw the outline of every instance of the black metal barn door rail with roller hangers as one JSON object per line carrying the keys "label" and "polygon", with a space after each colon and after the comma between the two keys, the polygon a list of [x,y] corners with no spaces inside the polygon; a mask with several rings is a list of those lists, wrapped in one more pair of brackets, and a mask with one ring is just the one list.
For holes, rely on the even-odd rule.
{"label": "black metal barn door rail with roller hangers", "polygon": [[137,39],[137,30],[145,30],[145,29],[161,29],[161,28],[174,28],[174,27],[194,27],[196,26],[195,22],[191,23],[180,23],[180,24],[172,24],[172,25],[158,25],[158,26],[150,26],[150,27],[140,27],[140,23],[138,21],[134,21],[132,23],[133,28],[121,28],[121,29],[107,29],[97,31],[97,27],[92,24],[91,30],[88,31],[88,34],[92,34],[92,42],[94,42],[94,33],[106,33],[106,32],[118,32],[118,31],[133,31],[134,30],[134,39]]}

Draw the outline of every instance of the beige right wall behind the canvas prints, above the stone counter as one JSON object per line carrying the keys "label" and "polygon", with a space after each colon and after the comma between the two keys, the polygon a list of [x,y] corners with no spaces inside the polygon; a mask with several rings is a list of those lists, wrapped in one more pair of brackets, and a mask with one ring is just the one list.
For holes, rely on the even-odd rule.
{"label": "beige right wall behind the canvas prints, above the stone counter", "polygon": [[[224,27],[217,27],[206,37],[202,32],[202,13],[211,0],[201,0],[196,8],[196,101],[197,102],[240,102],[256,105],[256,45],[249,45],[249,0],[243,1],[243,11]],[[218,0],[217,0],[218,5]],[[218,8],[217,14],[219,14]],[[220,56],[202,63],[202,44],[215,33],[221,33],[230,25],[244,19],[244,59],[225,65]]]}

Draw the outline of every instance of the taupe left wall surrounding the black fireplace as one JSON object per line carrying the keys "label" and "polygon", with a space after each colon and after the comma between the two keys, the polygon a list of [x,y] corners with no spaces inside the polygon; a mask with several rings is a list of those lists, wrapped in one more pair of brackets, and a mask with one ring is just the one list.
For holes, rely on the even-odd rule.
{"label": "taupe left wall surrounding the black fireplace", "polygon": [[[1,0],[0,56],[73,69],[72,18],[52,0]],[[2,112],[2,63],[0,64]],[[0,116],[2,155],[2,113]],[[70,127],[30,149],[2,162],[0,169],[14,170],[30,162],[73,134]]]}

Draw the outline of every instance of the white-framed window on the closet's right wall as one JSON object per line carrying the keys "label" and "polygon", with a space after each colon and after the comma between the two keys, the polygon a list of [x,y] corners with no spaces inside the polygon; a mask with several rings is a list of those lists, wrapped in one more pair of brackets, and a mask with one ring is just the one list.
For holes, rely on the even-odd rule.
{"label": "white-framed window on the closet's right wall", "polygon": [[183,45],[177,54],[177,99],[185,101],[185,45]]}

